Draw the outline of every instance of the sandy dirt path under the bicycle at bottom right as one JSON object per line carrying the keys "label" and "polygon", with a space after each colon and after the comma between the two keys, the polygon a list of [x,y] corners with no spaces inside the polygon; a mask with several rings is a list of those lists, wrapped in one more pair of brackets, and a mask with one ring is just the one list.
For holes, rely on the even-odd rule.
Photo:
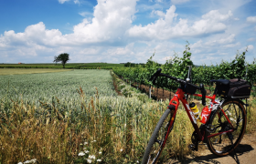
{"label": "sandy dirt path under the bicycle at bottom right", "polygon": [[[254,164],[256,163],[256,132],[251,134],[246,134],[241,142],[240,146],[236,149],[238,159],[240,164]],[[183,161],[177,161],[175,159],[168,161],[167,163],[176,163],[176,164],[237,164],[236,156],[232,153],[229,156],[225,157],[217,157],[212,154],[208,149],[205,149],[201,152],[198,152],[197,155],[194,157],[188,156],[187,158],[183,159]]]}

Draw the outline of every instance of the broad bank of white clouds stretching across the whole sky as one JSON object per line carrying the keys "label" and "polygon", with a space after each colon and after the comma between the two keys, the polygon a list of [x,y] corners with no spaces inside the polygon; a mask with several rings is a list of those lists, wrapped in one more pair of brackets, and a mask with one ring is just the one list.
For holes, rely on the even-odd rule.
{"label": "broad bank of white clouds stretching across the whole sky", "polygon": [[[59,4],[68,1],[59,0]],[[73,26],[70,34],[63,35],[59,29],[48,29],[43,22],[27,26],[22,33],[5,31],[0,36],[1,56],[5,62],[17,62],[20,56],[30,57],[31,61],[39,57],[39,61],[51,62],[53,56],[67,52],[72,54],[72,62],[120,63],[145,62],[156,50],[157,60],[163,63],[175,49],[184,49],[185,40],[200,37],[191,45],[192,52],[201,58],[197,60],[200,64],[208,63],[217,54],[227,56],[225,52],[229,48],[239,49],[241,43],[236,41],[237,34],[230,31],[230,22],[240,19],[234,18],[231,10],[210,10],[191,20],[176,13],[176,4],[187,2],[172,0],[173,5],[165,11],[153,9],[151,15],[157,18],[143,26],[133,25],[139,12],[137,0],[98,0],[93,15],[78,13],[85,18]],[[75,0],[74,3],[80,4],[80,1]],[[88,15],[92,18],[87,18]],[[246,22],[256,23],[256,16],[247,17]],[[184,42],[176,44],[175,40],[180,38]],[[247,39],[253,41],[252,37]],[[214,48],[217,50],[213,51]],[[253,50],[252,45],[250,49]],[[208,57],[205,57],[207,53]]]}

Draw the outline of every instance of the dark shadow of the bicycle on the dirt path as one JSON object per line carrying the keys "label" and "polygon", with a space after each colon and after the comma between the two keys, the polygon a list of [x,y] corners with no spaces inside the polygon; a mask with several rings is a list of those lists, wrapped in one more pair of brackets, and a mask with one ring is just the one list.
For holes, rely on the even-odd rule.
{"label": "dark shadow of the bicycle on the dirt path", "polygon": [[[235,149],[236,151],[236,155],[234,152],[232,152],[231,154],[228,155],[228,157],[231,157],[232,159],[234,159],[235,163],[240,163],[240,161],[237,160],[236,156],[238,157],[238,159],[240,159],[239,157],[242,156],[244,153],[248,153],[251,150],[253,150],[253,148],[251,147],[251,145],[247,145],[247,144],[240,144],[237,149]],[[183,160],[179,160],[179,161],[168,161],[168,163],[174,163],[174,164],[187,164],[187,163],[208,163],[208,164],[220,164],[219,159],[225,158],[227,156],[224,157],[218,157],[214,154],[208,154],[205,156],[199,156],[199,157],[195,157],[195,158],[184,158]],[[229,163],[234,163],[234,162],[229,162]]]}

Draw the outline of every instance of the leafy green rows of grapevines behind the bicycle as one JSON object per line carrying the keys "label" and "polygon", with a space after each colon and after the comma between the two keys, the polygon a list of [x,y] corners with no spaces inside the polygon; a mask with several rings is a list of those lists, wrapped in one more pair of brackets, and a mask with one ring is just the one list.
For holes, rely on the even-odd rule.
{"label": "leafy green rows of grapevines behind the bicycle", "polygon": [[[217,66],[194,66],[190,60],[191,53],[189,47],[186,46],[186,50],[183,53],[183,57],[175,56],[173,60],[165,62],[165,65],[159,65],[153,60],[151,56],[145,67],[114,67],[113,72],[123,78],[123,80],[130,81],[136,85],[147,85],[153,86],[148,79],[155,73],[157,68],[162,68],[162,73],[170,75],[172,77],[178,77],[182,79],[187,78],[188,66],[192,66],[192,83],[208,86],[209,89],[213,89],[210,84],[211,79],[232,79],[232,78],[243,78],[250,82],[251,86],[254,86],[256,82],[256,60],[251,64],[245,62],[245,54],[237,54],[235,59],[231,62],[222,61]],[[162,87],[171,91],[176,91],[177,83],[167,79],[165,77],[158,77],[156,80],[155,87]],[[252,87],[255,90],[255,86]],[[252,92],[255,97],[255,92]]]}

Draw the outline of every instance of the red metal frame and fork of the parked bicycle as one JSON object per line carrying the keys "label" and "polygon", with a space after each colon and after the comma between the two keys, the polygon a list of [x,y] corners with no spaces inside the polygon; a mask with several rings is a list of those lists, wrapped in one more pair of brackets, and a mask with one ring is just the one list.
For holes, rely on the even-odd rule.
{"label": "red metal frame and fork of the parked bicycle", "polygon": [[[187,99],[186,99],[186,97],[184,96],[184,94],[185,94],[185,92],[184,92],[181,88],[178,88],[178,89],[176,90],[175,96],[170,100],[169,106],[170,106],[170,105],[174,106],[174,107],[175,107],[175,111],[174,111],[174,114],[173,114],[173,116],[172,116],[172,118],[171,118],[171,122],[170,122],[170,126],[169,126],[169,129],[168,129],[168,132],[169,132],[169,130],[170,130],[170,127],[172,127],[173,124],[174,124],[174,121],[175,121],[175,118],[176,118],[176,111],[177,111],[177,108],[178,108],[178,106],[179,106],[179,100],[180,100],[180,101],[182,102],[184,108],[185,108],[186,111],[187,111],[187,116],[188,116],[188,118],[190,119],[190,121],[191,121],[193,127],[195,128],[195,131],[196,131],[196,133],[197,133],[197,140],[198,140],[198,141],[203,141],[203,140],[204,140],[204,137],[205,137],[205,130],[204,130],[204,129],[201,129],[201,130],[200,130],[200,129],[198,128],[198,126],[197,126],[197,119],[195,118],[193,111],[189,108],[189,106],[188,106],[188,104],[187,104]],[[201,94],[193,94],[193,96],[202,97]],[[209,98],[209,99],[211,99],[211,105],[219,104],[219,102],[217,102],[217,101],[215,100],[216,95],[213,95],[212,97],[208,97],[208,96],[206,96],[206,97]],[[224,110],[223,110],[221,107],[220,107],[220,109],[221,109],[223,115],[225,116],[225,118],[227,118],[227,120],[229,121],[230,126],[233,128],[233,126],[232,126],[232,124],[231,124],[229,118],[228,118],[227,115],[225,114]],[[212,108],[211,108],[211,110],[212,110]],[[211,112],[211,111],[210,111],[210,112]],[[219,114],[218,114],[218,116],[219,116]],[[219,116],[219,118],[220,118],[220,116]],[[229,132],[232,132],[232,131],[234,131],[234,129],[229,129],[229,130],[227,130],[227,131],[222,131],[222,132],[219,132],[219,133],[216,133],[216,134],[211,134],[211,135],[208,136],[208,138],[213,138],[213,137],[215,137],[215,136],[218,136],[218,135],[221,135],[221,134],[226,134],[226,133],[229,133]],[[168,134],[168,132],[167,132],[167,134]],[[166,136],[166,138],[167,138],[167,136]],[[166,139],[165,139],[165,140],[166,140]]]}

